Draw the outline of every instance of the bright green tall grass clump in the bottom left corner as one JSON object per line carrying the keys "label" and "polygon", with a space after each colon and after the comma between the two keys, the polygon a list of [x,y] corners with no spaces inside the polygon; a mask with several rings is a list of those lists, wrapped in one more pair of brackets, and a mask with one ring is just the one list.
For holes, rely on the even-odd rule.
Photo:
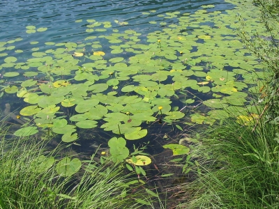
{"label": "bright green tall grass clump in the bottom left corner", "polygon": [[[34,138],[7,137],[0,127],[0,208],[154,208],[151,197],[132,174],[110,160],[83,162],[82,171],[59,176],[55,163],[46,166],[56,150]],[[45,157],[43,157],[43,155]],[[132,181],[133,180],[133,181]]]}

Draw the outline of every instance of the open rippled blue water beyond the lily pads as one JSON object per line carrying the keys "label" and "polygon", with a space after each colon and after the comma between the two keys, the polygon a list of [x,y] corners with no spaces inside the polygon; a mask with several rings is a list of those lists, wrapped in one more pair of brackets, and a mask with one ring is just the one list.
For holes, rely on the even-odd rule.
{"label": "open rippled blue water beyond the lily pads", "polygon": [[[91,1],[91,0],[1,0],[0,1],[0,41],[31,36],[39,42],[66,42],[82,40],[88,33],[84,32],[85,20],[96,21],[119,20],[128,22],[128,26],[119,26],[136,31],[156,29],[149,21],[159,19],[157,15],[179,11],[193,13],[202,5],[213,4],[212,10],[227,10],[233,6],[225,1]],[[156,10],[148,17],[142,12]],[[82,24],[75,20],[84,20]],[[45,33],[27,34],[25,27],[47,27]]]}

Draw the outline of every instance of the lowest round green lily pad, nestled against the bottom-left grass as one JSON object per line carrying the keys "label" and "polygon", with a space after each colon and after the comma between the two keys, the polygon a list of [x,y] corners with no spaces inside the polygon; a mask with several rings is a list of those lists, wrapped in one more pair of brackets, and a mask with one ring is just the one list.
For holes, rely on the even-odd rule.
{"label": "lowest round green lily pad, nestled against the bottom-left grass", "polygon": [[56,165],[56,172],[64,177],[72,176],[80,171],[80,167],[82,162],[78,158],[70,160],[70,157],[65,157]]}

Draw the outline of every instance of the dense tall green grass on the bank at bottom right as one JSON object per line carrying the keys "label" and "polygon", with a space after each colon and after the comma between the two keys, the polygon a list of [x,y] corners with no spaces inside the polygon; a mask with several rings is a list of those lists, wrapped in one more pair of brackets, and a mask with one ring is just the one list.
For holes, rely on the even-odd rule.
{"label": "dense tall green grass on the bank at bottom right", "polygon": [[195,148],[201,166],[196,180],[183,185],[193,193],[180,208],[279,208],[276,125],[262,117],[236,123],[230,114]]}

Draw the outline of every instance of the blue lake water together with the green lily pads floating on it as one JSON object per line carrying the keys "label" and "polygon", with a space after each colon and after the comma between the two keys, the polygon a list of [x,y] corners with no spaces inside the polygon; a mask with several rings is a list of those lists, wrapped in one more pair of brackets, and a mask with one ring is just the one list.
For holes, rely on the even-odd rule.
{"label": "blue lake water together with the green lily pads floating on it", "polygon": [[17,136],[43,128],[92,153],[120,135],[129,148],[151,141],[150,153],[160,153],[194,124],[228,117],[223,107],[243,111],[262,66],[235,36],[234,7],[1,1],[0,107],[10,104],[29,121]]}

